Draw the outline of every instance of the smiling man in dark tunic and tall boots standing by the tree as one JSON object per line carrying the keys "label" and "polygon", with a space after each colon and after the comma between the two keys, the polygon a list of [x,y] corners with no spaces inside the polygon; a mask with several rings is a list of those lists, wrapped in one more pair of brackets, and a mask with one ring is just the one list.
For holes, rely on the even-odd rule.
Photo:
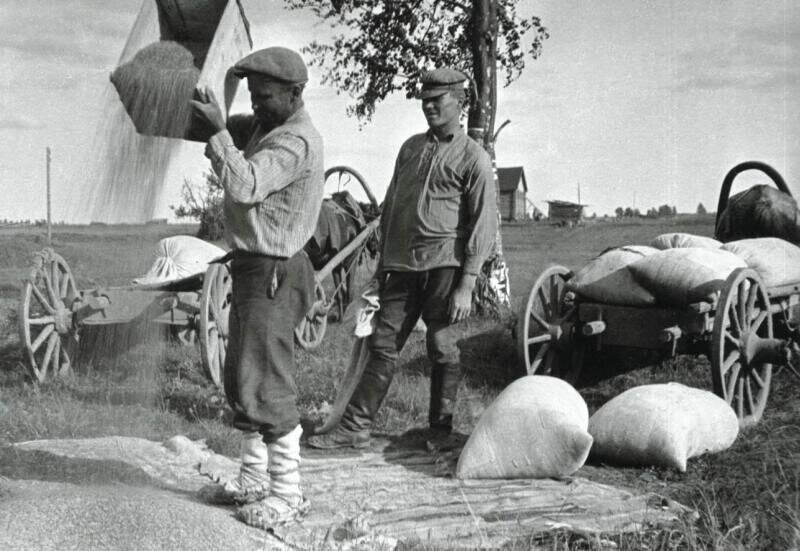
{"label": "smiling man in dark tunic and tall boots standing by the tree", "polygon": [[489,155],[459,124],[466,76],[436,69],[422,78],[428,131],[400,148],[381,215],[380,309],[370,360],[339,425],[314,448],[363,448],[409,333],[427,325],[432,439],[449,435],[461,382],[454,324],[469,316],[472,291],[494,242],[497,209]]}

